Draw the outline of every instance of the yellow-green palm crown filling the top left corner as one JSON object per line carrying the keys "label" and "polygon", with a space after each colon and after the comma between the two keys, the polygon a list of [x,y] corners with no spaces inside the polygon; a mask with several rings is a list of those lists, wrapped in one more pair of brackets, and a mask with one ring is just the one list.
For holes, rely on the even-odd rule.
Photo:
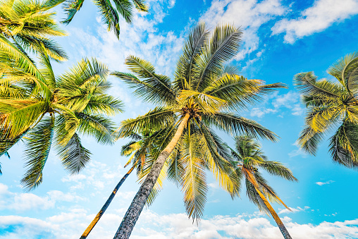
{"label": "yellow-green palm crown filling the top left corner", "polygon": [[[66,52],[49,37],[65,36],[49,9],[51,1],[5,0],[0,3],[0,33],[16,44],[23,53],[38,53],[45,49],[56,61],[67,59]],[[1,42],[4,44],[4,42]]]}

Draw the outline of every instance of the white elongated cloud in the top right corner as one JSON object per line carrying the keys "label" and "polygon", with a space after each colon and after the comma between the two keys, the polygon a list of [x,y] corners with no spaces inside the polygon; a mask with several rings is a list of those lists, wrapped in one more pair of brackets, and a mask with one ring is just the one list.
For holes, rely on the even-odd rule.
{"label": "white elongated cloud in the top right corner", "polygon": [[314,5],[302,11],[300,18],[284,18],[273,27],[273,35],[285,32],[285,42],[321,32],[333,23],[340,22],[358,13],[357,0],[316,0]]}

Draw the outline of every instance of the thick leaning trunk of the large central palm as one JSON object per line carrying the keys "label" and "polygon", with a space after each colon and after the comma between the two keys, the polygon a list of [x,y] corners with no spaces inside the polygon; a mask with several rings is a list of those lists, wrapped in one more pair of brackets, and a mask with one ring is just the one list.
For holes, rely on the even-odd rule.
{"label": "thick leaning trunk of the large central palm", "polygon": [[125,216],[121,222],[121,226],[119,226],[116,235],[114,235],[115,239],[128,239],[130,237],[130,233],[137,222],[137,219],[142,212],[145,202],[147,202],[147,198],[152,191],[156,180],[159,177],[159,173],[161,172],[161,168],[163,168],[164,162],[168,159],[169,154],[173,152],[175,145],[178,143],[181,135],[183,134],[183,130],[187,125],[187,121],[189,120],[190,115],[185,114],[183,120],[180,122],[178,129],[175,132],[175,135],[171,142],[166,146],[166,148],[159,154],[158,159],[156,159],[155,163],[152,166],[147,178],[145,178],[144,183],[140,186],[140,190],[138,190],[137,195],[135,195],[130,207],[128,208]]}

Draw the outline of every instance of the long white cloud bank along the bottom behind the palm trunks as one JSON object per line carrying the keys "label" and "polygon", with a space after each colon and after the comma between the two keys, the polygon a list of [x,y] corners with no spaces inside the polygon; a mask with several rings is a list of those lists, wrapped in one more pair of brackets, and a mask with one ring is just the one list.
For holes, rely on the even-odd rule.
{"label": "long white cloud bank along the bottom behind the palm trunks", "polygon": [[[304,210],[304,209],[302,209]],[[91,232],[90,238],[112,238],[121,215],[104,214]],[[254,216],[254,217],[252,217]],[[0,216],[0,228],[12,226],[15,230],[2,234],[1,238],[78,238],[94,217],[85,210],[73,209],[45,220],[21,216]],[[319,225],[293,223],[285,216],[283,222],[292,238],[357,238],[358,219],[351,221],[323,221]],[[144,210],[131,238],[282,238],[276,224],[262,216],[243,215],[214,216],[202,219],[199,226],[192,224],[186,214],[159,215]]]}

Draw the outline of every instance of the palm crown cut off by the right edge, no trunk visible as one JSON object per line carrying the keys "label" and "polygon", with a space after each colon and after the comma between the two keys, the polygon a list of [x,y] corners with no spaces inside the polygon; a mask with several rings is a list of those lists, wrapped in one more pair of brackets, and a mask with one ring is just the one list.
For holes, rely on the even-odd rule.
{"label": "palm crown cut off by the right edge, no trunk visible", "polygon": [[[358,167],[358,52],[347,54],[329,69],[336,82],[317,80],[313,72],[295,75],[294,83],[307,106],[305,125],[298,140],[310,154],[328,130],[336,129],[330,139],[333,161],[348,168]],[[337,129],[338,128],[338,129]]]}

